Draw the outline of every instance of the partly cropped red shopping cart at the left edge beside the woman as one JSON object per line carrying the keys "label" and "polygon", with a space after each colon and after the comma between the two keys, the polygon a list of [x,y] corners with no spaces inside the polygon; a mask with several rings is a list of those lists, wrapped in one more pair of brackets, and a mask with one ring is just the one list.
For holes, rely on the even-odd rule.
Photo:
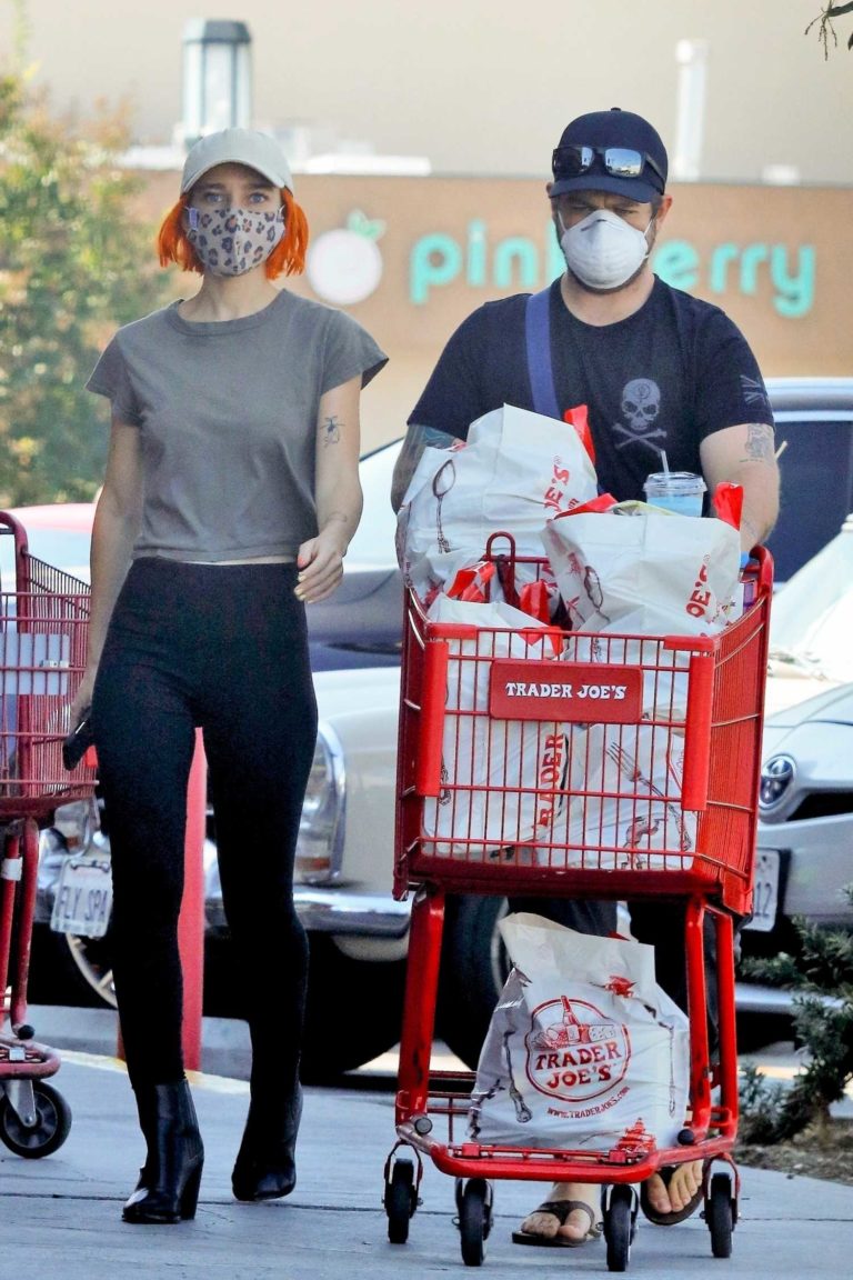
{"label": "partly cropped red shopping cart at the left edge beside the woman", "polygon": [[45,1083],[59,1057],[33,1039],[27,978],[40,824],[95,791],[93,763],[84,759],[68,773],[61,756],[86,662],[90,591],[29,556],[22,525],[5,512],[0,557],[15,584],[0,593],[0,1140],[38,1158],[61,1147],[72,1120],[65,1100]]}

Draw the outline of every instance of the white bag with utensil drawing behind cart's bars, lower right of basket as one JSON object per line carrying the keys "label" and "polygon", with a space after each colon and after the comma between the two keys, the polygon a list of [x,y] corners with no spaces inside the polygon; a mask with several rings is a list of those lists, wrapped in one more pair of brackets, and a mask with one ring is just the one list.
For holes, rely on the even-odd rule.
{"label": "white bag with utensil drawing behind cart's bars, lower right of basket", "polygon": [[570,797],[537,863],[584,870],[689,870],[697,815],[682,809],[684,733],[661,724],[573,724]]}

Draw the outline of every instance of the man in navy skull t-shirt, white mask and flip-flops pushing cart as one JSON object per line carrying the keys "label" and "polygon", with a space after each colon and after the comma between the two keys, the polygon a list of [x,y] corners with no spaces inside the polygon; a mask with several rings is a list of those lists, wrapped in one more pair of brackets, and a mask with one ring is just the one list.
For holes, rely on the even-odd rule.
{"label": "man in navy skull t-shirt, white mask and flip-flops pushing cart", "polygon": [[[696,471],[708,494],[743,486],[742,545],[761,543],[778,513],[772,415],[746,339],[719,307],[659,280],[648,265],[671,206],[657,132],[629,111],[573,120],[547,184],[567,270],[531,303],[489,302],[453,334],[409,417],[394,474],[399,508],[425,445],[464,439],[501,404],[554,417],[587,404],[600,485],[642,498],[652,471]],[[517,905],[517,904],[514,904]],[[542,902],[532,910],[545,914]],[[587,932],[613,928],[613,904],[551,902],[547,914]],[[633,904],[632,929],[653,942],[659,982],[684,1005],[680,916]],[[679,998],[680,996],[680,998]],[[701,1161],[643,1187],[643,1208],[670,1224],[701,1201]],[[600,1234],[597,1188],[560,1183],[514,1234],[519,1243],[579,1244]]]}

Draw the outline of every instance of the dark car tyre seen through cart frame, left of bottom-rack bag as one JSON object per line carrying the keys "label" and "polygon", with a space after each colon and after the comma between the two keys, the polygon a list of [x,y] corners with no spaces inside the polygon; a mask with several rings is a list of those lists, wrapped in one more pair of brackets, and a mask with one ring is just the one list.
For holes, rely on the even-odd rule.
{"label": "dark car tyre seen through cart frame, left of bottom-rack bag", "polygon": [[472,1071],[509,973],[497,923],[505,897],[448,897],[441,948],[437,1030]]}

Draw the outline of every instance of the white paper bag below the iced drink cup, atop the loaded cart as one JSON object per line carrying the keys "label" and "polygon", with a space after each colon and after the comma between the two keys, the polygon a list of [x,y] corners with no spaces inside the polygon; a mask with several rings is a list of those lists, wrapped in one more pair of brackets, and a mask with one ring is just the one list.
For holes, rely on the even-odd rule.
{"label": "white paper bag below the iced drink cup, atop the loaded cart", "polygon": [[723,520],[619,503],[554,518],[542,541],[574,630],[712,635],[740,612],[740,536]]}

